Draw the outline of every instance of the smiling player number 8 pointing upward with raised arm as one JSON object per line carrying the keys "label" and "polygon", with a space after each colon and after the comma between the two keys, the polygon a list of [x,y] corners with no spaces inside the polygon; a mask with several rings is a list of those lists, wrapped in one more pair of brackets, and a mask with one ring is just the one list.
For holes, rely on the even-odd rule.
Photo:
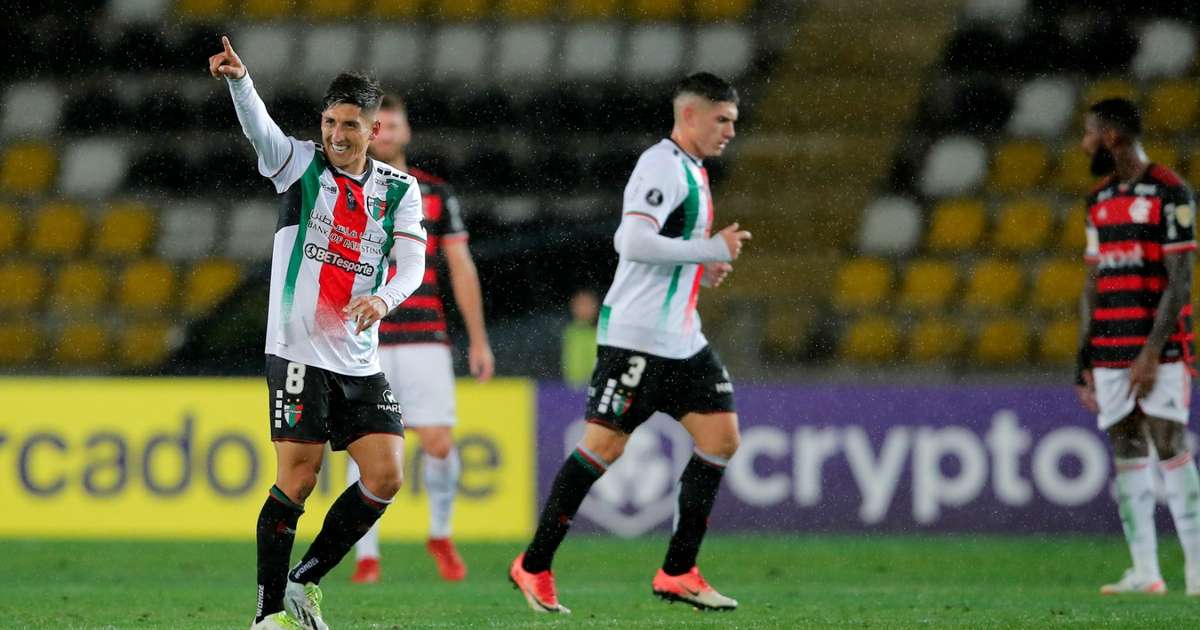
{"label": "smiling player number 8 pointing upward with raised arm", "polygon": [[[322,576],[341,562],[400,490],[404,425],[379,370],[378,323],[425,271],[416,181],[367,157],[383,91],[340,74],[325,92],[322,144],[284,136],[227,37],[209,71],[229,84],[258,172],[283,196],[271,257],[266,383],[275,486],[258,516],[254,629],[324,630]],[[395,276],[388,278],[395,259]],[[325,515],[288,571],[296,522],[325,443],[348,450],[362,479]]]}

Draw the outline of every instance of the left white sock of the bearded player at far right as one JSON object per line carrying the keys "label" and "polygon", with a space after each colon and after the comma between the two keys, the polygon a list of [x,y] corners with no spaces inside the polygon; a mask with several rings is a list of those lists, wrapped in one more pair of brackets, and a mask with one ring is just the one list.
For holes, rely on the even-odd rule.
{"label": "left white sock of the bearded player at far right", "polygon": [[1154,532],[1154,469],[1150,457],[1117,458],[1117,508],[1129,544],[1133,569],[1145,580],[1160,580]]}

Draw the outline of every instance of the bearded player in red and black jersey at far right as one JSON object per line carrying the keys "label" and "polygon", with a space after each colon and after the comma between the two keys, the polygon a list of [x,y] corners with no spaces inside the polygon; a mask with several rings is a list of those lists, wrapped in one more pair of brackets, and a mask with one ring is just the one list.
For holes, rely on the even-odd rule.
{"label": "bearded player in red and black jersey at far right", "polygon": [[1200,476],[1186,439],[1195,203],[1178,175],[1150,162],[1140,133],[1138,109],[1123,98],[1093,104],[1085,119],[1082,148],[1104,179],[1087,199],[1078,392],[1112,444],[1133,556],[1133,568],[1100,593],[1166,592],[1154,535],[1153,444],[1188,594],[1200,595]]}

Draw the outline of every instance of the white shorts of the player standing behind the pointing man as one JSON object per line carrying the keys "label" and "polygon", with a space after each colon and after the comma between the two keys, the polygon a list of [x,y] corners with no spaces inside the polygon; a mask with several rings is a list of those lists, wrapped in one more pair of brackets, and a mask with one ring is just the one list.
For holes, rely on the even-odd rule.
{"label": "white shorts of the player standing behind the pointing man", "polygon": [[379,364],[400,402],[404,426],[454,426],[454,356],[444,343],[379,347]]}

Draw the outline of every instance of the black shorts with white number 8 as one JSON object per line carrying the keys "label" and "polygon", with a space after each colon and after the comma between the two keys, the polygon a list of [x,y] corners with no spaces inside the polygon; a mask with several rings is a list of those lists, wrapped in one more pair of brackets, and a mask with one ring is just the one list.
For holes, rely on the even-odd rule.
{"label": "black shorts with white number 8", "polygon": [[268,354],[266,386],[272,442],[328,442],[341,451],[368,433],[404,434],[383,372],[348,377]]}

